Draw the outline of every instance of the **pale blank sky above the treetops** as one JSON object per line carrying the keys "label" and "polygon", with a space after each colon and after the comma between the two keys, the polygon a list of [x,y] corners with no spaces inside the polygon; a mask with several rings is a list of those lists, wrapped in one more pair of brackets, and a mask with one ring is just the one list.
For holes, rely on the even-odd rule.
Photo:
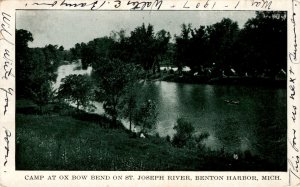
{"label": "pale blank sky above the treetops", "polygon": [[152,24],[155,32],[165,29],[172,37],[180,34],[180,25],[183,23],[191,23],[193,28],[198,28],[230,18],[242,28],[249,18],[255,16],[255,12],[18,10],[16,16],[17,29],[28,30],[33,35],[34,41],[29,43],[30,47],[53,44],[69,49],[76,43],[109,36],[111,31],[125,29],[129,34],[142,23]]}

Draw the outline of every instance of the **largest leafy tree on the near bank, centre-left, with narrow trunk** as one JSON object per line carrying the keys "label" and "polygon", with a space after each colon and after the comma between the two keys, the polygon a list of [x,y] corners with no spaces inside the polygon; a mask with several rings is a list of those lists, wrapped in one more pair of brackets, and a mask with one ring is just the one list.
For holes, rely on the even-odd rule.
{"label": "largest leafy tree on the near bank, centre-left, with narrow trunk", "polygon": [[140,68],[119,59],[99,59],[94,63],[92,77],[97,82],[96,100],[103,102],[105,112],[112,118],[112,127],[116,127],[122,100],[134,81],[138,80]]}

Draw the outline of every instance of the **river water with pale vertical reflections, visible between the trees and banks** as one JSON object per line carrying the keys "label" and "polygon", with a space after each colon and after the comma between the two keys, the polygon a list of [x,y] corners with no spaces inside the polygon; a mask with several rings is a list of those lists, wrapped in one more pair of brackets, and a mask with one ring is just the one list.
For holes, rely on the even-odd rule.
{"label": "river water with pale vertical reflections, visible between the trees and banks", "polygon": [[[78,64],[62,65],[54,88],[69,74],[91,71]],[[172,136],[177,118],[182,117],[197,133],[209,133],[205,143],[211,149],[265,156],[286,152],[286,89],[153,81],[143,85],[140,97],[158,104],[155,131],[162,137]],[[101,103],[95,105],[96,113],[104,112]],[[271,157],[276,160],[276,155]]]}

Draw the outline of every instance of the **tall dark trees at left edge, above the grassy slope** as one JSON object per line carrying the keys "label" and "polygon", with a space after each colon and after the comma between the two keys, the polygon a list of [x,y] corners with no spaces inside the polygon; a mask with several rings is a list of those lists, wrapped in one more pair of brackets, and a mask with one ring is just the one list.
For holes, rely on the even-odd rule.
{"label": "tall dark trees at left edge, above the grassy slope", "polygon": [[52,99],[52,82],[62,58],[58,46],[29,48],[29,41],[33,41],[30,32],[16,30],[16,81],[17,89],[22,90],[17,92],[17,98],[34,101],[42,112],[42,107]]}

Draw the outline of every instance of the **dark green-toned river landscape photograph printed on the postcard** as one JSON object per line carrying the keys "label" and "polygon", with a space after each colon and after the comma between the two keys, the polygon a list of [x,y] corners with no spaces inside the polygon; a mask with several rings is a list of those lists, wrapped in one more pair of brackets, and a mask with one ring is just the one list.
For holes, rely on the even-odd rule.
{"label": "dark green-toned river landscape photograph printed on the postcard", "polygon": [[16,10],[16,170],[287,172],[287,21]]}

